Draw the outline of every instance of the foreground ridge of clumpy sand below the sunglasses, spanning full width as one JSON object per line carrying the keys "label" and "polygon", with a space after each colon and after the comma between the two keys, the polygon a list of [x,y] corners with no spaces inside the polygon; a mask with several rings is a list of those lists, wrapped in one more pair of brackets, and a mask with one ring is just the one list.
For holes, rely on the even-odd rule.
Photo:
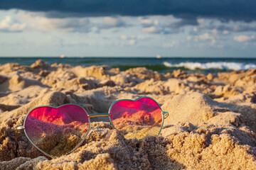
{"label": "foreground ridge of clumpy sand below the sunglasses, spanning full width", "polygon": [[[166,128],[165,131],[172,128]],[[175,128],[180,128],[182,132],[166,138],[145,137],[139,141],[124,140],[116,130],[95,128],[85,145],[73,154],[48,160],[38,157],[41,154],[36,154],[36,151],[33,151],[34,157],[37,157],[35,159],[23,158],[28,157],[28,154],[21,153],[23,157],[1,162],[0,168],[254,169],[256,166],[252,147],[240,145],[231,135],[218,128],[207,130],[189,124]],[[106,135],[109,138],[104,141]]]}

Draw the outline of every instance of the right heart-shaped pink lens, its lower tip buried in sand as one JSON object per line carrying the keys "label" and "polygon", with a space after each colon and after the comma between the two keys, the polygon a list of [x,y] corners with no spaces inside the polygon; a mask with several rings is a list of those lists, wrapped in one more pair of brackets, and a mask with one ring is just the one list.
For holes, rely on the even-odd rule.
{"label": "right heart-shaped pink lens, its lower tip buried in sand", "polygon": [[137,101],[117,101],[111,110],[114,128],[120,130],[126,139],[142,139],[146,135],[158,135],[163,123],[161,108],[151,98]]}

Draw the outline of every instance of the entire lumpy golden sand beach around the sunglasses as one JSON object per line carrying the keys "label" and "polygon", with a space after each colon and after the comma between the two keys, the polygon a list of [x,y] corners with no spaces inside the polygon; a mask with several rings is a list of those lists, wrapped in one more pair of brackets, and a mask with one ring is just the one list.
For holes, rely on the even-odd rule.
{"label": "entire lumpy golden sand beach around the sunglasses", "polygon": [[[256,69],[161,74],[38,60],[0,66],[0,169],[256,169]],[[119,99],[154,98],[169,117],[159,137],[125,140],[106,119],[75,152],[50,159],[16,128],[36,106],[75,103],[107,113]],[[103,121],[102,121],[103,120]]]}

